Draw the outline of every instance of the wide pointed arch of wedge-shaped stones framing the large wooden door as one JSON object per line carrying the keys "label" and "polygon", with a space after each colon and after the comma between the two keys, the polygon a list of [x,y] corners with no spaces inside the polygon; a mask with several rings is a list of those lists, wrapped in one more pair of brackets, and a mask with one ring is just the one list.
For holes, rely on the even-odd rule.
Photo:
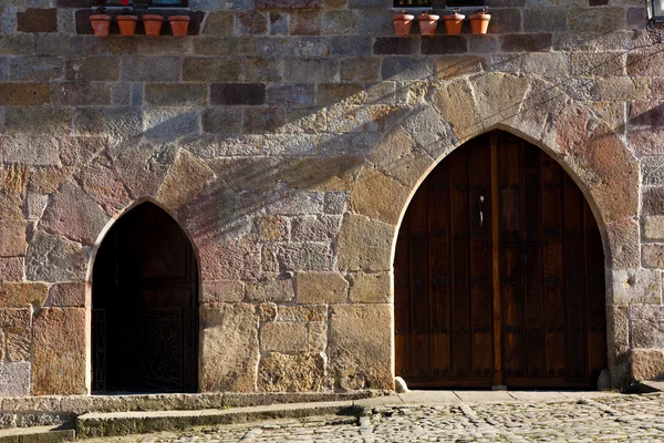
{"label": "wide pointed arch of wedge-shaped stones framing the large wooden door", "polygon": [[612,383],[620,385],[626,349],[616,344],[613,331],[625,329],[626,320],[611,309],[612,270],[640,267],[639,162],[618,134],[620,126],[538,76],[487,73],[430,84],[369,154],[349,197],[339,268],[391,272],[401,220],[419,184],[452,151],[494,128],[547,152],[593,210],[605,255],[609,364]]}

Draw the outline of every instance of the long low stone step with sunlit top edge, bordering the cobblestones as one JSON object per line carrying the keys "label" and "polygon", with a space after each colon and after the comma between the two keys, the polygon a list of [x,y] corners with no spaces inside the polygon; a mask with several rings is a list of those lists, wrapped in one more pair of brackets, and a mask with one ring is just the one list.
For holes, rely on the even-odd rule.
{"label": "long low stone step with sunlit top edge, bordering the cobblestones", "polygon": [[353,401],[271,404],[268,406],[199,411],[93,412],[76,419],[76,437],[146,434],[191,426],[234,424],[273,419],[360,413]]}

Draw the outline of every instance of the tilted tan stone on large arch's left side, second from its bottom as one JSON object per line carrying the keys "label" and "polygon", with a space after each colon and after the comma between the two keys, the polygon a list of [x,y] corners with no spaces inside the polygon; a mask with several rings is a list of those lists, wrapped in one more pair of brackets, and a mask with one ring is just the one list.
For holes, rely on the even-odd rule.
{"label": "tilted tan stone on large arch's left side, second from its bottom", "polygon": [[396,225],[408,198],[409,189],[394,178],[373,168],[364,168],[351,192],[352,212]]}

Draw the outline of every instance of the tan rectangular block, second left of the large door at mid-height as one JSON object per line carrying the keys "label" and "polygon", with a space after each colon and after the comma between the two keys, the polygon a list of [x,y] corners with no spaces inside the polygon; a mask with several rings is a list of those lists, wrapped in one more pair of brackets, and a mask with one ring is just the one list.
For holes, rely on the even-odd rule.
{"label": "tan rectangular block, second left of the large door at mid-height", "polygon": [[345,303],[349,282],[338,272],[298,272],[299,303]]}

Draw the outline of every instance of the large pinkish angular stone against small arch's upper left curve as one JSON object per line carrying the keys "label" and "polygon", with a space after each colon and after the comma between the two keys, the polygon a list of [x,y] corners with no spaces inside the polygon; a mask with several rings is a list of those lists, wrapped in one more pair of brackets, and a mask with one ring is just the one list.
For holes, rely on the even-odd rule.
{"label": "large pinkish angular stone against small arch's upper left curve", "polygon": [[51,197],[42,217],[45,230],[93,245],[108,223],[104,210],[73,183],[64,183]]}

